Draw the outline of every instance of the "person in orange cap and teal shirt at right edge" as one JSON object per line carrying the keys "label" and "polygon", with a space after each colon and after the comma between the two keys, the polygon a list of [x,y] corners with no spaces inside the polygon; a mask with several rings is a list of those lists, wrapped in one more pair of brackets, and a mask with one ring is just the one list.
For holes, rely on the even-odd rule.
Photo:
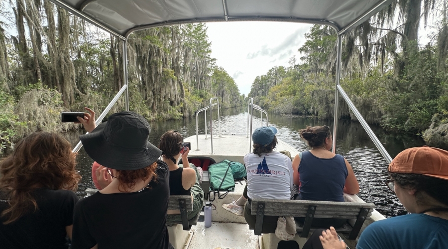
{"label": "person in orange cap and teal shirt at right edge", "polygon": [[[411,214],[370,224],[356,249],[447,249],[448,151],[428,146],[405,149],[389,164],[389,175],[386,185]],[[310,240],[319,237],[321,247],[314,248],[345,249],[333,227]]]}

